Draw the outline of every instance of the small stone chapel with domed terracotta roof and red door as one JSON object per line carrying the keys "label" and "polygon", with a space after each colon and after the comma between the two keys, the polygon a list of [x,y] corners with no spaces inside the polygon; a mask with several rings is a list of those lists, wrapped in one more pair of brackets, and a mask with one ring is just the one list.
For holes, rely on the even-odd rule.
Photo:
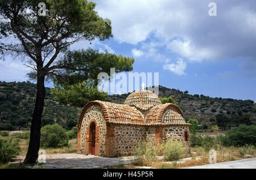
{"label": "small stone chapel with domed terracotta roof and red door", "polygon": [[90,101],[82,109],[77,153],[115,157],[132,155],[141,140],[154,145],[178,140],[190,153],[189,127],[174,104],[162,104],[155,93],[139,90],[124,104]]}

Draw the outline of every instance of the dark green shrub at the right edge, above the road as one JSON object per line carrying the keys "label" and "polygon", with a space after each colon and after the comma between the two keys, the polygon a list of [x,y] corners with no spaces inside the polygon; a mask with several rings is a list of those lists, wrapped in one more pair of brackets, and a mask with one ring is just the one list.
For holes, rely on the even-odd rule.
{"label": "dark green shrub at the right edge, above the road", "polygon": [[230,145],[255,145],[256,144],[256,126],[250,125],[240,125],[239,127],[234,127],[226,132],[228,136]]}

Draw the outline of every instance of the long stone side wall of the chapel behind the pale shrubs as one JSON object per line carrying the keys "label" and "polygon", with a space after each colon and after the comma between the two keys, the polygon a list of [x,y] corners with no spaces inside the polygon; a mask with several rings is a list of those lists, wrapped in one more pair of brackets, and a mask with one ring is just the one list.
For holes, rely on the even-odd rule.
{"label": "long stone side wall of the chapel behind the pale shrubs", "polygon": [[188,127],[182,126],[143,126],[143,125],[117,125],[107,124],[106,156],[132,155],[138,142],[146,140],[153,145],[166,142],[168,139],[178,140],[184,144],[184,148],[190,153],[190,143],[184,141],[184,132]]}

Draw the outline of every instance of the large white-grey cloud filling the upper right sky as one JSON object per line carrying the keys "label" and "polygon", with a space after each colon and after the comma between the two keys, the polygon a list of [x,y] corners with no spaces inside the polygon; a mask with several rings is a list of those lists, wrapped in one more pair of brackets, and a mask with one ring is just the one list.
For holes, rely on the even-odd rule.
{"label": "large white-grey cloud filling the upper right sky", "polygon": [[[112,21],[113,35],[119,42],[138,45],[154,34],[171,52],[191,61],[255,59],[255,0],[215,0],[217,16],[208,15],[209,2],[204,0],[94,1],[98,14]],[[159,55],[160,46],[148,48],[148,52]]]}

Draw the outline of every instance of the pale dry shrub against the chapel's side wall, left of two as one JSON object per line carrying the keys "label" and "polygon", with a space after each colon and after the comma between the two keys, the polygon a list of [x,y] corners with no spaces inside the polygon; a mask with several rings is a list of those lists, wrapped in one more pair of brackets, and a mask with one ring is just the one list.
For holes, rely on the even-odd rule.
{"label": "pale dry shrub against the chapel's side wall, left of two", "polygon": [[134,149],[134,164],[152,166],[156,160],[156,149],[150,142],[139,142]]}

